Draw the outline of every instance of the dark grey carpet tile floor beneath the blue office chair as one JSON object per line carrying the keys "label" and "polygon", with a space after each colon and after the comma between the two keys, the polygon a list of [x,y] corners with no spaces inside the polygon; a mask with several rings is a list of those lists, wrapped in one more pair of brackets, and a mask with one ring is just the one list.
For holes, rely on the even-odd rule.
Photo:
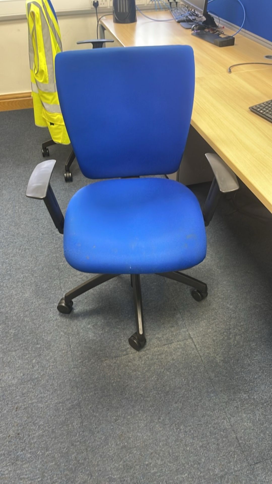
{"label": "dark grey carpet tile floor beneath the blue office chair", "polygon": [[[86,276],[65,262],[43,202],[25,197],[46,130],[0,113],[0,483],[272,482],[272,217],[245,187],[222,200],[187,287],[142,277],[146,347],[129,276],[56,305]],[[65,211],[88,183],[69,147],[52,186]],[[194,187],[200,200],[208,187]],[[239,211],[237,210],[239,208]],[[252,216],[242,212],[249,211]]]}

